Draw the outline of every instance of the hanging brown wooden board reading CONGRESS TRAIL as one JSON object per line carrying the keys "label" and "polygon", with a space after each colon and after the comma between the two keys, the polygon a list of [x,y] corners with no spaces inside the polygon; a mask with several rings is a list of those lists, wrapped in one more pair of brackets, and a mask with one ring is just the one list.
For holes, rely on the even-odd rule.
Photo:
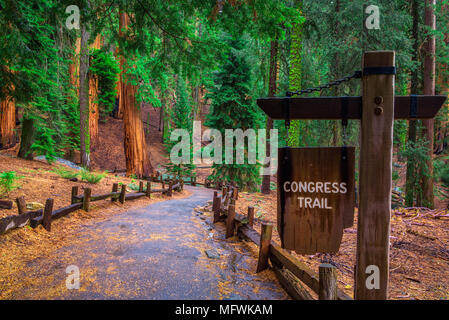
{"label": "hanging brown wooden board reading CONGRESS TRAIL", "polygon": [[337,253],[354,222],[354,147],[280,148],[278,232],[299,254]]}

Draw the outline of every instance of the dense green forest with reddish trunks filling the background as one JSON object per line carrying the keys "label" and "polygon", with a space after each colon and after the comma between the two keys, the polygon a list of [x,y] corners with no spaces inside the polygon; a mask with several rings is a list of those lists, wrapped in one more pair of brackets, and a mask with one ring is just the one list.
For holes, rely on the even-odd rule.
{"label": "dense green forest with reddish trunks filling the background", "polygon": [[[80,9],[79,29],[66,26],[71,5]],[[367,5],[380,8],[378,30],[364,28]],[[255,100],[350,75],[366,50],[396,51],[397,95],[447,95],[448,6],[447,0],[1,0],[1,148],[91,168],[92,159],[111,157],[100,138],[109,127],[122,131],[110,139],[123,146],[127,175],[142,177],[154,173],[150,159],[173,147],[170,133],[191,130],[194,120],[222,132],[273,126],[280,146],[358,146],[358,121],[349,121],[346,135],[339,121],[292,121],[287,134],[283,121],[267,119]],[[310,95],[360,95],[360,82]],[[448,197],[448,115],[446,104],[435,120],[395,122],[393,180],[401,181],[395,192],[405,206],[433,207]],[[149,137],[155,127],[157,139]],[[175,175],[197,172],[166,162]],[[258,166],[214,165],[211,178],[251,191],[272,188]]]}

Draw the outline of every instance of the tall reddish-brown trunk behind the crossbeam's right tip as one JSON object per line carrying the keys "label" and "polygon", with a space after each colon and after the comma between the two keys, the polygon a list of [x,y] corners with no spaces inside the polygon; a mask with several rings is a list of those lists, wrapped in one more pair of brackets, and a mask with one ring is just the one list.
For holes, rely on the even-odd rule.
{"label": "tall reddish-brown trunk behind the crossbeam's right tip", "polygon": [[[425,24],[431,30],[435,30],[436,18],[434,12],[435,0],[426,0]],[[424,43],[424,94],[435,94],[435,36],[428,35]],[[423,136],[429,142],[427,168],[428,175],[423,177],[423,204],[429,208],[434,206],[433,195],[433,129],[434,120],[423,120]]]}

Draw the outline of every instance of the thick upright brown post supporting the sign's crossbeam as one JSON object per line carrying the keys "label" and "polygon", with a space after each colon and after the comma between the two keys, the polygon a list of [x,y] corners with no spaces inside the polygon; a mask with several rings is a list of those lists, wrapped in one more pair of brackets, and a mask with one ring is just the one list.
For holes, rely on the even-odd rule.
{"label": "thick upright brown post supporting the sign's crossbeam", "polygon": [[[388,297],[394,74],[385,73],[394,66],[394,51],[365,52],[363,55],[360,204],[354,290],[355,299],[361,300],[385,300]],[[366,68],[371,68],[371,72],[366,72]],[[368,277],[372,283],[368,283]]]}

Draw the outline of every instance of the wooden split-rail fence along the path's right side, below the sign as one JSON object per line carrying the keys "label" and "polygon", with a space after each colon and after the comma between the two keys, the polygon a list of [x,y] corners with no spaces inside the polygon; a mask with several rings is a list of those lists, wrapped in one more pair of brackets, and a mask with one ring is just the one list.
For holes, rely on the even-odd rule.
{"label": "wooden split-rail fence along the path's right side, below the sign", "polygon": [[314,300],[310,291],[315,292],[319,300],[352,300],[337,287],[337,269],[335,266],[322,263],[319,273],[315,274],[304,263],[292,256],[271,240],[273,225],[261,222],[261,233],[257,232],[254,222],[254,207],[248,207],[246,215],[235,210],[238,200],[238,188],[232,185],[224,186],[221,195],[214,192],[212,202],[213,222],[224,222],[226,225],[226,238],[236,233],[248,239],[259,247],[259,257],[256,272],[269,268],[276,274],[282,287],[297,300]]}

